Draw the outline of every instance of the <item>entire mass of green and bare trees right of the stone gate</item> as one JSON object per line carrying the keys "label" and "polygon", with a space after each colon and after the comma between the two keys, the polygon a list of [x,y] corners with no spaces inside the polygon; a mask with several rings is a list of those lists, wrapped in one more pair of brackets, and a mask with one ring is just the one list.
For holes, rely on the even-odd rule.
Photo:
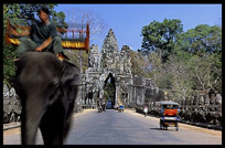
{"label": "entire mass of green and bare trees right of the stone gate", "polygon": [[[143,27],[141,33],[142,49],[138,52],[144,56],[133,55],[135,74],[172,89],[178,98],[193,89],[222,92],[221,27],[200,24],[183,32],[180,20],[164,19]],[[144,64],[146,60],[150,64]]]}

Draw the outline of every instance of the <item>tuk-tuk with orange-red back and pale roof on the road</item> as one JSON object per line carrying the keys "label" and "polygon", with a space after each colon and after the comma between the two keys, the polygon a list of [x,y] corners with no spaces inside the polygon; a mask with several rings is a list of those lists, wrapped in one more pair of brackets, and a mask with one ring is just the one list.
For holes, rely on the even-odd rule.
{"label": "tuk-tuk with orange-red back and pale roof on the road", "polygon": [[179,130],[180,120],[179,114],[179,104],[172,101],[161,101],[160,102],[160,129],[168,129],[169,126],[174,126],[175,130]]}

